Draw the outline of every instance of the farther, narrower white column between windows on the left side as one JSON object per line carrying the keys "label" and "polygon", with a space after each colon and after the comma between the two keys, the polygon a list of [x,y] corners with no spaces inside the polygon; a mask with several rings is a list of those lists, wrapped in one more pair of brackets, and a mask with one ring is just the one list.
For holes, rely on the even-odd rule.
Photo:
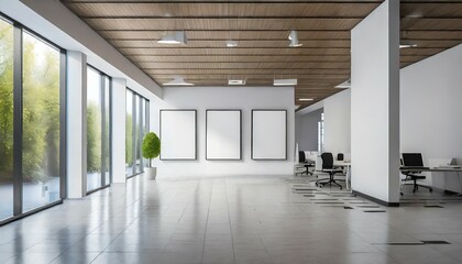
{"label": "farther, narrower white column between windows on the left side", "polygon": [[112,183],[125,183],[127,80],[112,78]]}

